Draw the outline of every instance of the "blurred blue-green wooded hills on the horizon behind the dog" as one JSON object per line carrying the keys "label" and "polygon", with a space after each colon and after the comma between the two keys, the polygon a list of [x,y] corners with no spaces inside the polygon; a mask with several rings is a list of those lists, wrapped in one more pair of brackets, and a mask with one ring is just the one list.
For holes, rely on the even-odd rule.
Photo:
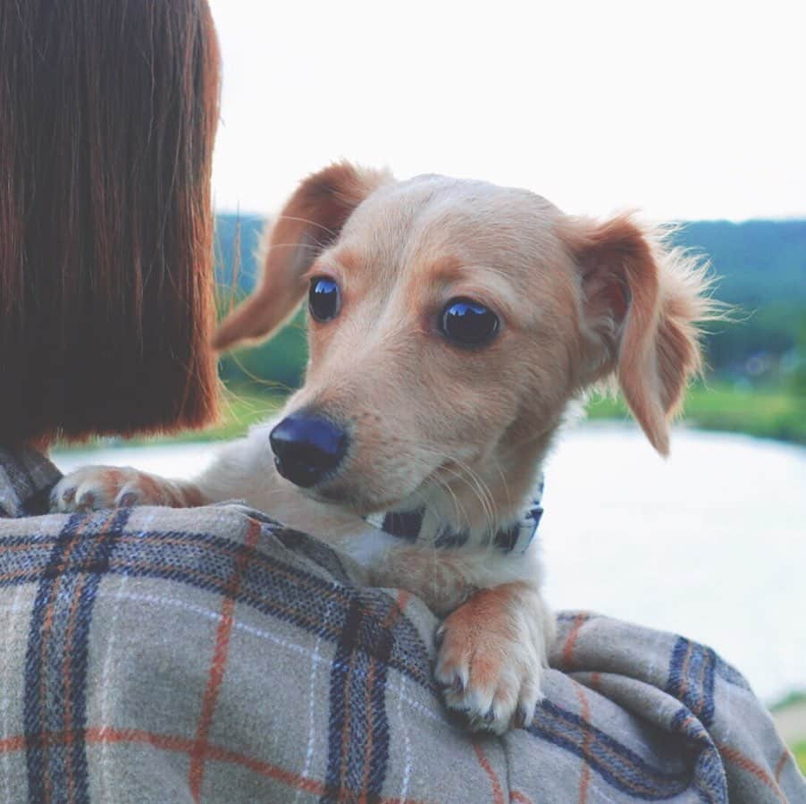
{"label": "blurred blue-green wooded hills on the horizon behind the dog", "polygon": [[[260,217],[219,215],[216,279],[222,312],[252,290]],[[709,257],[714,295],[734,306],[730,322],[709,326],[710,371],[744,385],[785,384],[806,395],[806,221],[694,221],[677,244]],[[222,359],[222,377],[268,389],[298,386],[306,361],[305,315],[271,343]]]}

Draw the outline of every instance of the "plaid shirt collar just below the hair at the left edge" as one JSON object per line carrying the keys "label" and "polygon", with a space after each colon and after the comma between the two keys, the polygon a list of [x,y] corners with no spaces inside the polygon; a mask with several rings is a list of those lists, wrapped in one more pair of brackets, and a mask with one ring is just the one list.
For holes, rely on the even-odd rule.
{"label": "plaid shirt collar just below the hair at the left edge", "polygon": [[50,490],[61,478],[36,450],[0,449],[0,519],[47,513]]}

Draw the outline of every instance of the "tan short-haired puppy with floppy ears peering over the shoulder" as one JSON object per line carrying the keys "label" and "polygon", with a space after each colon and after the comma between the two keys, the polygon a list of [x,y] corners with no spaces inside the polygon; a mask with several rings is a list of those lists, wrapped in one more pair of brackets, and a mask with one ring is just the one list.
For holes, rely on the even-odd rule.
{"label": "tan short-haired puppy with floppy ears peering over the shoulder", "polygon": [[279,421],[193,482],[77,470],[55,509],[244,499],[421,597],[443,618],[447,706],[473,729],[523,726],[553,638],[531,539],[542,462],[568,410],[608,381],[667,454],[701,369],[704,267],[634,216],[348,163],[303,181],[264,241],[256,291],[215,346],[270,336],[307,298],[306,380]]}

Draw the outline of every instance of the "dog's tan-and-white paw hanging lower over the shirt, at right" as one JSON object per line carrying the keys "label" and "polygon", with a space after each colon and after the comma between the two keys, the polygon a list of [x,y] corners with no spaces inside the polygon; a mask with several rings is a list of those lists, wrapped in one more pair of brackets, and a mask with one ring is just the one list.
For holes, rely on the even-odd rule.
{"label": "dog's tan-and-white paw hanging lower over the shirt, at right", "polygon": [[502,734],[532,720],[546,666],[545,607],[525,583],[480,589],[436,634],[445,703],[474,731]]}

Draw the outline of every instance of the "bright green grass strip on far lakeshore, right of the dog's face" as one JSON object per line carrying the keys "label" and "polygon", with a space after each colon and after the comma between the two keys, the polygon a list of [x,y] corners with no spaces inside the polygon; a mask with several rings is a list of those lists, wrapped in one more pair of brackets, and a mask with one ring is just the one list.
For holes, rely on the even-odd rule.
{"label": "bright green grass strip on far lakeshore, right of the dog's face", "polygon": [[[592,397],[589,419],[626,419],[625,403]],[[683,420],[693,427],[806,444],[806,400],[783,387],[737,388],[720,382],[693,385]]]}

